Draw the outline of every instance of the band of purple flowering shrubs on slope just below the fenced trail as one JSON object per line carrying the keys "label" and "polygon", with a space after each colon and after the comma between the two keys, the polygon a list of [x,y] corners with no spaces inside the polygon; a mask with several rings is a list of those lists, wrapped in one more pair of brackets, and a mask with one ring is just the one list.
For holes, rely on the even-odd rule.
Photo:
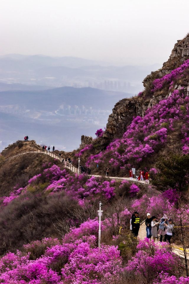
{"label": "band of purple flowering shrubs on slope just below the fenced trail", "polygon": [[67,170],[61,170],[55,164],[43,170],[42,174],[30,178],[28,183],[29,185],[25,188],[19,188],[11,192],[9,196],[1,197],[1,205],[6,206],[17,197],[23,196],[27,191],[38,192],[40,189],[47,194],[65,191],[69,197],[78,201],[81,206],[87,203],[87,199],[93,199],[96,194],[99,195],[99,198],[101,196],[106,200],[110,200],[115,196],[114,180],[107,181],[104,178],[70,174]]}

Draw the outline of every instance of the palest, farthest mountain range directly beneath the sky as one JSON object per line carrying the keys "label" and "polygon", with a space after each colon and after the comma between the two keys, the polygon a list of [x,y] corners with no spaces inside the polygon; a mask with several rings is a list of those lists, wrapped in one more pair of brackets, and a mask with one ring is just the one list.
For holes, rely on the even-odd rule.
{"label": "palest, farthest mountain range directly beneath the sky", "polygon": [[8,54],[0,57],[0,83],[93,87],[134,94],[141,89],[142,79],[159,67],[159,64],[114,66],[77,57]]}

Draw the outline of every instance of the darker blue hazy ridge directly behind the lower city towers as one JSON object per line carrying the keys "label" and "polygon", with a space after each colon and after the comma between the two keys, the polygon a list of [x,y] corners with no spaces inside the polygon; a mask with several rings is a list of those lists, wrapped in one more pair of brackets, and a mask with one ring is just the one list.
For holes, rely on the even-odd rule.
{"label": "darker blue hazy ridge directly behind the lower city towers", "polygon": [[3,91],[0,92],[1,105],[18,104],[32,109],[56,110],[60,104],[85,105],[93,109],[112,109],[116,100],[130,97],[131,93],[105,91],[95,88],[60,87],[34,91]]}

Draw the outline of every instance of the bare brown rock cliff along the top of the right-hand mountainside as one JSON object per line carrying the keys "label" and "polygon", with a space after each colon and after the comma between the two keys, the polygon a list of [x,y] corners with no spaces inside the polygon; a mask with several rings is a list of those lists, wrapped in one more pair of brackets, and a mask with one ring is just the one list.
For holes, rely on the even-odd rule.
{"label": "bare brown rock cliff along the top of the right-hand mountainside", "polygon": [[173,69],[177,68],[186,59],[189,59],[189,34],[183,39],[177,41],[175,44],[170,58],[167,62],[163,63],[161,69],[151,72],[144,81],[144,91],[140,96],[131,99],[123,99],[119,101],[112,114],[110,114],[103,135],[103,145],[106,146],[110,141],[115,138],[120,138],[126,131],[127,126],[131,123],[133,117],[144,116],[146,110],[157,104],[162,98],[168,95],[167,92],[151,92],[153,88],[153,80],[161,78],[170,73]]}

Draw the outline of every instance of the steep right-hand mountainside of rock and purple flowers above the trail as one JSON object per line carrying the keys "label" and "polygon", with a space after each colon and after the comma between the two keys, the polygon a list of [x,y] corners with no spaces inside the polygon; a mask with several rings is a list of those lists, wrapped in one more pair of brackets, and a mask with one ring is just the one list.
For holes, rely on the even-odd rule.
{"label": "steep right-hand mountainside of rock and purple flowers above the trail", "polygon": [[[154,167],[157,159],[172,151],[189,153],[189,54],[184,52],[188,50],[188,38],[176,44],[172,52],[175,56],[164,63],[162,70],[144,80],[143,92],[115,105],[99,141],[106,150],[98,153],[91,145],[90,151],[82,152],[92,171],[104,172],[109,166],[111,175],[124,176],[131,167]],[[169,72],[165,70],[175,66]]]}

